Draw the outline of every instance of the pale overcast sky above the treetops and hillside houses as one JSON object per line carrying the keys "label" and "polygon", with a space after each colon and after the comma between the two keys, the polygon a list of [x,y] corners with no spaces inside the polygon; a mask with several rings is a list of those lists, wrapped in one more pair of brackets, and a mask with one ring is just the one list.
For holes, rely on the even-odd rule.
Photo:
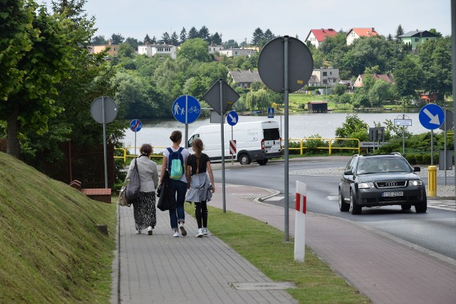
{"label": "pale overcast sky above the treetops and hillside houses", "polygon": [[[43,1],[40,1],[41,3]],[[48,0],[50,2],[50,0]],[[222,34],[222,41],[252,40],[256,28],[269,28],[275,36],[306,39],[312,28],[375,28],[381,35],[395,35],[401,24],[404,32],[435,28],[451,34],[450,0],[88,0],[89,16],[95,16],[95,36],[142,41],[146,34],[160,39],[167,32],[179,36],[206,26],[209,34]]]}

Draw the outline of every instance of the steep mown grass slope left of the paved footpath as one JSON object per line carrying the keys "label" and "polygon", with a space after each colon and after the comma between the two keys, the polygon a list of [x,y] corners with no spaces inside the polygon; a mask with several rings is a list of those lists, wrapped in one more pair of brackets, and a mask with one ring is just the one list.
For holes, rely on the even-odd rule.
{"label": "steep mown grass slope left of the paved footpath", "polygon": [[0,168],[0,303],[108,303],[115,204],[1,152]]}

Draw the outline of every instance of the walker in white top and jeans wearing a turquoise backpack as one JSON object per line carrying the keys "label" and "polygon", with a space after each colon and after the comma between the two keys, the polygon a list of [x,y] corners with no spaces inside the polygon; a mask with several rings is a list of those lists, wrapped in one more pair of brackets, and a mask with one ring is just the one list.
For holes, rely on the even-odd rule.
{"label": "walker in white top and jeans wearing a turquoise backpack", "polygon": [[182,236],[187,235],[185,230],[185,211],[184,201],[185,192],[187,192],[187,178],[185,177],[185,163],[190,152],[180,147],[182,142],[182,132],[175,130],[171,133],[170,140],[172,146],[163,150],[163,164],[162,172],[160,174],[160,184],[162,179],[165,177],[165,172],[170,175],[171,178],[171,195],[176,197],[176,206],[169,210],[170,212],[170,224],[173,231],[174,237],[179,236],[179,229]]}

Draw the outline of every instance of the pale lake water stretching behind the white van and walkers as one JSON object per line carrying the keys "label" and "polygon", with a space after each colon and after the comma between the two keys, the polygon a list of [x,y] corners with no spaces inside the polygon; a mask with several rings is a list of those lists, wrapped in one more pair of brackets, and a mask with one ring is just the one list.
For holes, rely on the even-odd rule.
{"label": "pale lake water stretching behind the white van and walkers", "polygon": [[[290,114],[289,115],[289,138],[302,139],[310,137],[311,135],[320,135],[323,138],[335,137],[336,128],[342,127],[343,122],[346,120],[347,112],[330,112],[330,113],[303,113],[303,114]],[[366,122],[369,127],[374,127],[374,122],[383,122],[385,120],[394,121],[396,118],[402,118],[403,112],[383,112],[383,113],[369,113],[359,112],[356,113],[358,117]],[[428,132],[420,124],[418,119],[418,112],[405,113],[406,119],[412,120],[412,125],[408,127],[408,131],[413,134],[420,134]],[[281,124],[281,135],[284,136],[284,116],[276,115],[272,119],[267,116],[239,116],[239,122],[251,122],[259,120],[276,120]],[[169,147],[171,144],[170,135],[173,130],[180,130],[182,132],[182,142],[185,140],[185,124],[178,122],[174,118],[167,120],[141,120],[142,128],[136,132],[136,147],[140,147],[144,143],[150,143],[153,147]],[[188,125],[188,136],[192,134],[197,127],[202,125],[211,125],[209,117],[199,118],[195,122]],[[220,128],[220,124],[212,124],[214,127]],[[439,129],[434,132],[441,132]],[[135,132],[130,130],[125,131],[123,138],[125,147],[135,146]]]}

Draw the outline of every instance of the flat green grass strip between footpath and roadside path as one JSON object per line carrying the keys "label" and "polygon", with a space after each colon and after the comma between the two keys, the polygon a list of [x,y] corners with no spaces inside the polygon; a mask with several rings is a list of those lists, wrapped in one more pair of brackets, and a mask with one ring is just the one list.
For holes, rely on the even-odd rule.
{"label": "flat green grass strip between footpath and roadside path", "polygon": [[[185,211],[195,209],[185,204]],[[299,303],[371,303],[365,295],[348,285],[326,263],[306,248],[306,261],[294,261],[294,240],[284,241],[283,231],[249,216],[209,209],[209,229],[219,239],[274,281],[293,282],[287,291]]]}

